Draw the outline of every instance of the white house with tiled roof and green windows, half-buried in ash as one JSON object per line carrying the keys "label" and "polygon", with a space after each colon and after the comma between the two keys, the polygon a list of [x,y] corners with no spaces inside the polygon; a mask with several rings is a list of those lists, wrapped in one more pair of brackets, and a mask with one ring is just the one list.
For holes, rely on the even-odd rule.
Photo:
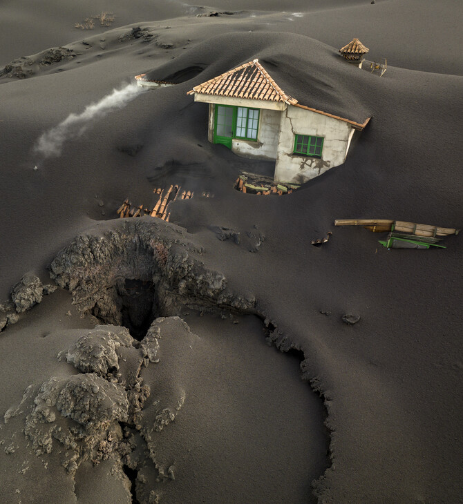
{"label": "white house with tiled roof and green windows, half-buried in ash", "polygon": [[209,142],[237,155],[274,159],[276,182],[302,184],[343,164],[363,124],[316,110],[285,93],[258,59],[188,92],[209,104]]}

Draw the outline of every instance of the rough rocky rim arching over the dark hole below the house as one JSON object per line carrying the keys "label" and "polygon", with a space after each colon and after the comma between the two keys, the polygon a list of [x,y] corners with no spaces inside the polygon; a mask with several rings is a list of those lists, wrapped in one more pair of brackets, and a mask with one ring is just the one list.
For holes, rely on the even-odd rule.
{"label": "rough rocky rim arching over the dark hole below the house", "polygon": [[147,217],[116,222],[104,235],[77,236],[53,260],[50,276],[73,293],[79,311],[116,325],[122,323],[127,279],[152,282],[155,316],[178,315],[185,304],[254,313],[254,297],[228,289],[225,276],[207,269],[201,253],[183,229]]}

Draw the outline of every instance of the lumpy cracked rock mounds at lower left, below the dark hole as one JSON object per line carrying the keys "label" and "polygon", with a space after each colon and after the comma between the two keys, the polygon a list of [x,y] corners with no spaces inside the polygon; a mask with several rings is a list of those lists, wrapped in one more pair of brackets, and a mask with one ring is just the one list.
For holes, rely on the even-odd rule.
{"label": "lumpy cracked rock mounds at lower left, below the dark hole", "polygon": [[[59,354],[60,361],[66,359],[81,372],[30,385],[21,403],[4,415],[10,436],[23,432],[46,465],[48,456],[59,457],[71,478],[84,461],[97,465],[111,458],[119,468],[117,477],[125,478],[124,467],[135,472],[143,467],[145,472],[154,469],[158,481],[173,479],[173,467],[158,461],[154,437],[175,420],[185,394],[161,387],[145,411],[150,390],[141,377],[143,367],[159,361],[163,332],[167,340],[180,338],[185,345],[197,338],[178,317],[155,320],[140,344],[125,327],[84,331]],[[14,453],[15,447],[8,445],[6,453]],[[137,479],[148,496],[151,488],[146,483],[142,476]]]}

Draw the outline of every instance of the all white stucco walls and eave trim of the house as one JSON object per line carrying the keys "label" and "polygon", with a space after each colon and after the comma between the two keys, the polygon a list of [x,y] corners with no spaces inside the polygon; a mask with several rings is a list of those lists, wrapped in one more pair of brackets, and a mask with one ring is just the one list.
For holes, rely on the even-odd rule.
{"label": "all white stucco walls and eave trim of the house", "polygon": [[[276,182],[303,184],[343,164],[355,128],[349,122],[282,102],[238,99],[195,93],[195,101],[209,103],[209,142],[214,142],[216,104],[259,108],[257,141],[231,140],[231,151],[243,157],[275,159]],[[295,154],[295,135],[323,137],[321,158]]]}

